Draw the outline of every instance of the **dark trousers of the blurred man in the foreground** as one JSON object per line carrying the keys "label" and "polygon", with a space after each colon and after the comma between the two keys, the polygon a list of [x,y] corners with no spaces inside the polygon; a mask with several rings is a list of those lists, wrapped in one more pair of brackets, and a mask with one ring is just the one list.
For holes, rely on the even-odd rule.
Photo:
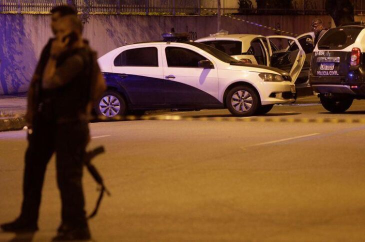
{"label": "dark trousers of the blurred man in the foreground", "polygon": [[82,190],[82,158],[88,142],[86,122],[55,124],[38,121],[28,134],[20,217],[37,222],[47,163],[56,153],[57,184],[62,204],[62,223],[87,226]]}

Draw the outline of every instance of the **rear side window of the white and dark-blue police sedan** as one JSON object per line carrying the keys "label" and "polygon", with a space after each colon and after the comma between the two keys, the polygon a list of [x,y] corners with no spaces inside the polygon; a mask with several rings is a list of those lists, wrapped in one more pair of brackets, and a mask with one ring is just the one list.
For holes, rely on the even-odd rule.
{"label": "rear side window of the white and dark-blue police sedan", "polygon": [[121,52],[114,59],[115,66],[158,66],[157,48],[132,48]]}

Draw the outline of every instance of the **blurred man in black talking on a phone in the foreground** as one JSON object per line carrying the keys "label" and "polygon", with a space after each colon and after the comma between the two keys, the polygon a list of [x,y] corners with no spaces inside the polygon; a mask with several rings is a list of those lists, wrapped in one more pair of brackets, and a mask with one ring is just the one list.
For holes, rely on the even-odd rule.
{"label": "blurred man in black talking on a phone in the foreground", "polygon": [[23,201],[15,221],[4,231],[35,231],[46,165],[56,153],[62,223],[54,240],[89,239],[82,190],[83,155],[89,141],[88,118],[105,89],[96,54],[82,39],[81,21],[66,15],[55,23],[49,58],[37,68],[34,93],[28,98],[28,148],[25,153]]}

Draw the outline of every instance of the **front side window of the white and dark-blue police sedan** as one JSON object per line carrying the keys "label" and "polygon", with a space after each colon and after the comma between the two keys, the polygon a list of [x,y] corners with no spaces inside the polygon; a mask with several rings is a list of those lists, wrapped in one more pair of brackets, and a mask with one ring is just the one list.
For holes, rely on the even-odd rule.
{"label": "front side window of the white and dark-blue police sedan", "polygon": [[198,67],[197,62],[206,59],[195,51],[181,47],[166,47],[165,53],[168,67]]}

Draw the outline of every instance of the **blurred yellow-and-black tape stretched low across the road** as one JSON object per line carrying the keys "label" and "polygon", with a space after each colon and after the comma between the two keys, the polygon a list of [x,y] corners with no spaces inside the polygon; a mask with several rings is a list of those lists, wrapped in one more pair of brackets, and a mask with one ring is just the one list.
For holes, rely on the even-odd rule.
{"label": "blurred yellow-and-black tape stretched low across the road", "polygon": [[137,120],[185,120],[185,121],[226,121],[226,122],[286,122],[286,123],[365,123],[365,118],[295,118],[295,117],[197,117],[181,115],[159,115],[159,116],[98,116],[102,121],[137,121]]}

